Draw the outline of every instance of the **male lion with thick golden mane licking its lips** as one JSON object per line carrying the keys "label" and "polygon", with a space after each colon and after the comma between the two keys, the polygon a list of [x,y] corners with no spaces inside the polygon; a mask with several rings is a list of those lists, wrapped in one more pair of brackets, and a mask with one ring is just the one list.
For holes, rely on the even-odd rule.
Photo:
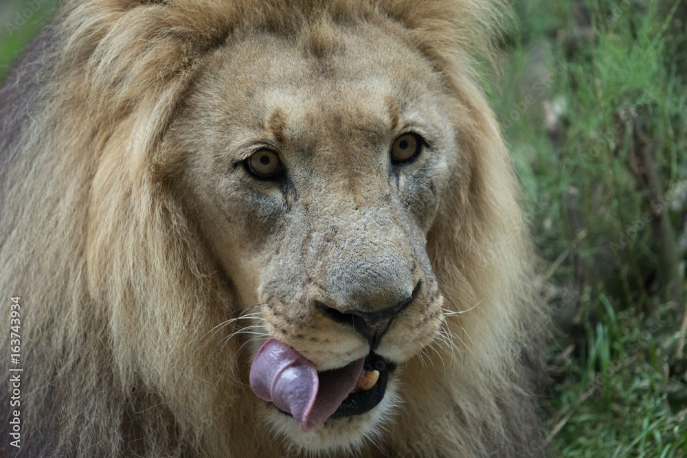
{"label": "male lion with thick golden mane licking its lips", "polygon": [[3,450],[541,455],[497,9],[67,1],[0,93]]}

